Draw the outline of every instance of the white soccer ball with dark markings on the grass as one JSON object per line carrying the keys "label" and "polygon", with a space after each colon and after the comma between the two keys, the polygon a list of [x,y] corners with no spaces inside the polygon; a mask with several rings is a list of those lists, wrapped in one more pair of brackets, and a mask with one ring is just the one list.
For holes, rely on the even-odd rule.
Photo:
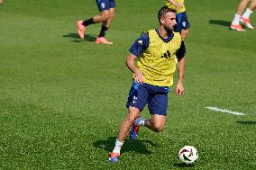
{"label": "white soccer ball with dark markings on the grass", "polygon": [[198,158],[197,149],[192,146],[185,146],[178,151],[178,158],[185,164],[194,164]]}

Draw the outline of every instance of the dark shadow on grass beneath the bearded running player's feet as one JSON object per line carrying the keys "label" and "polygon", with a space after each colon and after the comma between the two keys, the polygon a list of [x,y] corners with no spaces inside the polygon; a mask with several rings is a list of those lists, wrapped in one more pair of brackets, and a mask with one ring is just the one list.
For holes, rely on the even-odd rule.
{"label": "dark shadow on grass beneath the bearded running player's feet", "polygon": [[[108,152],[112,152],[113,148],[114,148],[114,143],[115,143],[116,137],[108,137],[108,139],[105,140],[97,140],[94,143],[94,146],[96,148],[103,148]],[[140,140],[140,139],[136,139],[136,140],[125,140],[125,143],[122,147],[122,153],[124,152],[129,152],[129,151],[134,151],[140,154],[147,154],[150,155],[151,151],[149,151],[145,144],[150,144],[152,147],[160,147],[157,144],[154,144],[151,140]]]}

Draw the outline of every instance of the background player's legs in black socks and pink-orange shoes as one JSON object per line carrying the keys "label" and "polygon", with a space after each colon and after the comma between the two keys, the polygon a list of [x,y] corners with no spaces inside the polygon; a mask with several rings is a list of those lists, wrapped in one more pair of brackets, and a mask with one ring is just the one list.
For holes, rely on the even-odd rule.
{"label": "background player's legs in black socks and pink-orange shoes", "polygon": [[105,33],[114,19],[115,0],[96,0],[96,4],[101,14],[95,15],[86,21],[78,21],[78,35],[80,39],[84,39],[88,25],[102,22],[101,31],[96,38],[96,43],[113,44],[113,42],[105,39]]}

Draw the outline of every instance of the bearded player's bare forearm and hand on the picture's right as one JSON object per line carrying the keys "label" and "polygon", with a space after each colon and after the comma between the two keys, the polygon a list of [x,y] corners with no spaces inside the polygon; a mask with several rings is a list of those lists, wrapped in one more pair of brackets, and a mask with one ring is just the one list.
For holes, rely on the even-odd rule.
{"label": "bearded player's bare forearm and hand on the picture's right", "polygon": [[178,58],[178,84],[176,86],[176,94],[184,94],[183,78],[185,72],[185,58]]}

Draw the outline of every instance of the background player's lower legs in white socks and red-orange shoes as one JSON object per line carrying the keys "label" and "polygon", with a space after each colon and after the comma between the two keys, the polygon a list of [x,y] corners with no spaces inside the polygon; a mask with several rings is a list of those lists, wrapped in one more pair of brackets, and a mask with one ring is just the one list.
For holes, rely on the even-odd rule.
{"label": "background player's lower legs in white socks and red-orange shoes", "polygon": [[[248,6],[248,4],[250,5]],[[248,8],[243,13],[244,9],[248,6]],[[253,29],[254,27],[251,25],[250,16],[253,10],[256,8],[256,0],[242,0],[240,4],[238,4],[237,11],[234,14],[233,22],[231,23],[231,29],[235,31],[245,31],[242,28],[242,24],[244,24],[247,28]],[[243,13],[243,14],[242,14]]]}

